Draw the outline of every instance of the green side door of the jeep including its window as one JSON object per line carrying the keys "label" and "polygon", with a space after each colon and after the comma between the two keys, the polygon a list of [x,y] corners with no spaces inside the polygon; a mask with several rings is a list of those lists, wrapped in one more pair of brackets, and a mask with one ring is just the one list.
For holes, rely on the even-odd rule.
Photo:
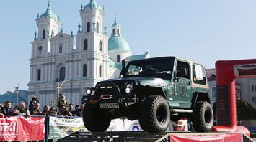
{"label": "green side door of the jeep including its window", "polygon": [[177,60],[175,68],[172,99],[178,105],[178,108],[190,108],[192,98],[190,64]]}

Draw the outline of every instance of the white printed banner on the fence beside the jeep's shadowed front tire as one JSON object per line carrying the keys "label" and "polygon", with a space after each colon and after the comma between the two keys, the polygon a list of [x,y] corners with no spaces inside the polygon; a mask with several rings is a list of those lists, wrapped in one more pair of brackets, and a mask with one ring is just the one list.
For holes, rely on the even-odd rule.
{"label": "white printed banner on the fence beside the jeep's shadowed front tire", "polygon": [[76,131],[88,131],[82,118],[57,118],[49,116],[48,139],[60,139]]}

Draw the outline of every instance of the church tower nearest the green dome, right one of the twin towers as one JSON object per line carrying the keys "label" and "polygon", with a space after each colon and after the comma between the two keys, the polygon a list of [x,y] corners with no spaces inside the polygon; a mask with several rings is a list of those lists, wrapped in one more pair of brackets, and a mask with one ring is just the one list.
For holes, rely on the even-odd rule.
{"label": "church tower nearest the green dome, right one of the twin towers", "polygon": [[103,28],[105,11],[95,0],[86,6],[81,5],[81,25],[76,35],[76,49],[81,52],[83,77],[87,85],[94,86],[100,80],[107,79],[108,40],[106,28]]}

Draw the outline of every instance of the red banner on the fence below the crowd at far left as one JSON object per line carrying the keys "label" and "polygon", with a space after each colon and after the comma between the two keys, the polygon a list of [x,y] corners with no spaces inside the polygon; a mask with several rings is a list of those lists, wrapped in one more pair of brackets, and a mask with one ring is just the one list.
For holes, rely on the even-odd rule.
{"label": "red banner on the fence below the crowd at far left", "polygon": [[45,117],[0,118],[0,141],[35,141],[45,138]]}

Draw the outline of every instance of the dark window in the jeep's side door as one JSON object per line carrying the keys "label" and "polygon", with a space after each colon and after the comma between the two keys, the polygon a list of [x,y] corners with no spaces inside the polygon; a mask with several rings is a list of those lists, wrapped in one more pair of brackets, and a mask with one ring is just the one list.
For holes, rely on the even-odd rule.
{"label": "dark window in the jeep's side door", "polygon": [[187,62],[177,61],[176,77],[190,79],[190,65]]}

